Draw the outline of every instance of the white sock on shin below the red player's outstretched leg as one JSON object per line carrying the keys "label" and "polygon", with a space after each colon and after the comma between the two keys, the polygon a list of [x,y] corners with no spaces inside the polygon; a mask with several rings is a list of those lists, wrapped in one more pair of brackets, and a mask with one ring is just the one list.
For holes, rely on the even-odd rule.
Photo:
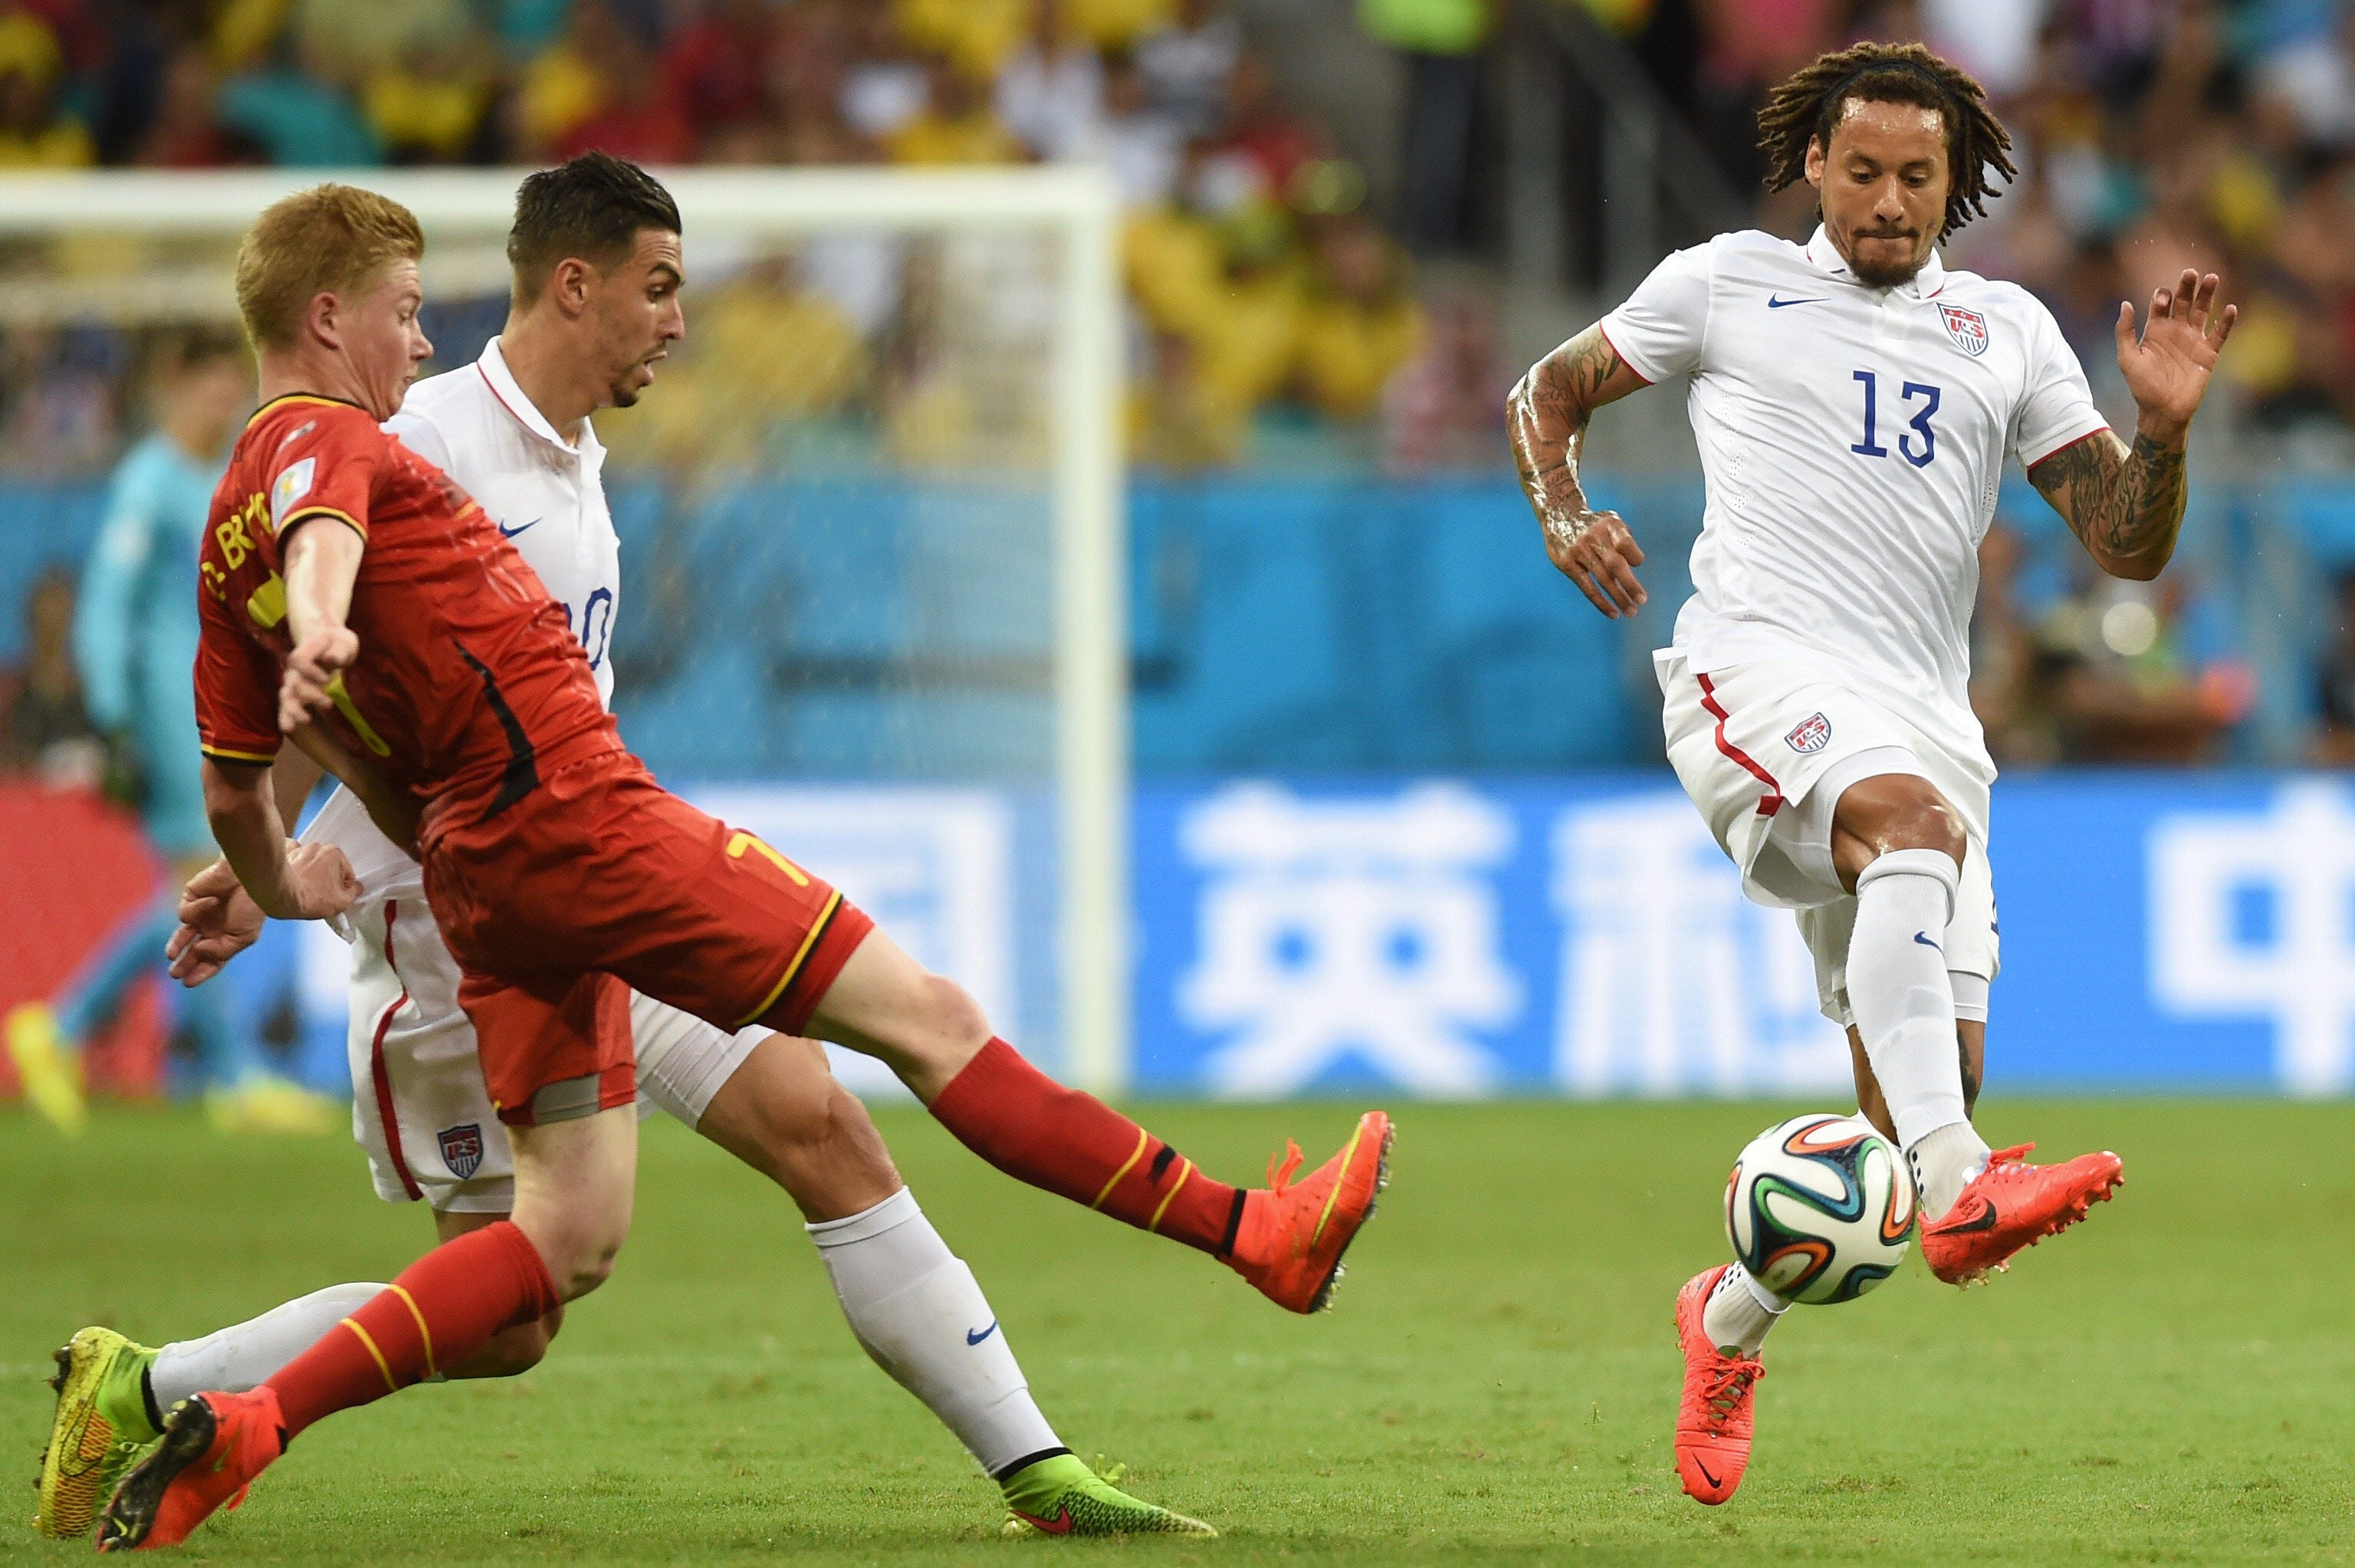
{"label": "white sock on shin below the red player's outstretched leg", "polygon": [[921,1398],[982,1469],[1062,1448],[1006,1347],[999,1314],[916,1194],[900,1189],[862,1215],[810,1227],[850,1333],[876,1366]]}

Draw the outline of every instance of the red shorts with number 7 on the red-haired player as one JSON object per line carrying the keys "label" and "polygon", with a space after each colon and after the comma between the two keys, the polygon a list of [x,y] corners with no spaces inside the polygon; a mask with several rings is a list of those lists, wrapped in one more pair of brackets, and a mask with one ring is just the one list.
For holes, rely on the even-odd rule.
{"label": "red shorts with number 7 on the red-haired player", "polygon": [[[563,1083],[586,1114],[629,1104],[629,996],[801,1034],[874,921],[751,833],[612,751],[504,812],[429,831],[426,902],[464,979],[499,1121],[530,1125]],[[542,1107],[549,1118],[546,1107]]]}

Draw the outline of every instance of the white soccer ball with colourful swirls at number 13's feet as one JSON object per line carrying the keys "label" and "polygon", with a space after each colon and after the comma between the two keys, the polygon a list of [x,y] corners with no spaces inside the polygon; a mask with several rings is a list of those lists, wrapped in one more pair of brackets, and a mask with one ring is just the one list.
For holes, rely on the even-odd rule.
{"label": "white soccer ball with colourful swirls at number 13's feet", "polygon": [[1750,1140],[1726,1177],[1726,1238],[1792,1302],[1853,1302],[1905,1262],[1912,1170],[1863,1116],[1792,1116]]}

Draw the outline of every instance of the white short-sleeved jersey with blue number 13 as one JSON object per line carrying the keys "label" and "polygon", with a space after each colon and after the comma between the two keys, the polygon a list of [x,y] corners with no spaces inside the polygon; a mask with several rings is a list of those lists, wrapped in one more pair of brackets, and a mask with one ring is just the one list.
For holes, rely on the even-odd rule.
{"label": "white short-sleeved jersey with blue number 13", "polygon": [[1743,231],[1665,259],[1601,332],[1646,381],[1686,379],[1707,480],[1674,633],[1691,669],[1830,664],[1992,779],[1966,687],[2004,459],[2108,426],[2051,311],[1936,252],[1877,290],[1823,228]]}

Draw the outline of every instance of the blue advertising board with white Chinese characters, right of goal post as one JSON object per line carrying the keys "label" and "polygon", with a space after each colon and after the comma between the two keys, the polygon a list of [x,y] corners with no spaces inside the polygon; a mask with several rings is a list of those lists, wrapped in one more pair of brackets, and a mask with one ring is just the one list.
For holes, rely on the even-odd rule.
{"label": "blue advertising board with white Chinese characters, right of goal post", "polygon": [[[1988,1078],[2355,1083],[2355,789],[2070,772],[1995,789]],[[1792,916],[1665,775],[1147,784],[1152,1095],[1837,1095]]]}

